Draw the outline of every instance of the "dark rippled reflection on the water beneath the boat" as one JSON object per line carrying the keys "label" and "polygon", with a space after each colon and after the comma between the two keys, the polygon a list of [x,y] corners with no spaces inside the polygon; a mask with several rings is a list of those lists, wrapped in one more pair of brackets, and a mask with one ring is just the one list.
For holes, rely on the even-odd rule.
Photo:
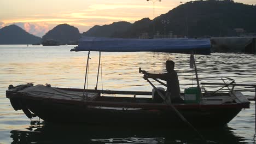
{"label": "dark rippled reflection on the water beneath the boat", "polygon": [[34,121],[27,131],[12,130],[11,143],[246,143],[229,127],[199,129],[202,141],[190,129],[106,127],[85,124],[50,124]]}

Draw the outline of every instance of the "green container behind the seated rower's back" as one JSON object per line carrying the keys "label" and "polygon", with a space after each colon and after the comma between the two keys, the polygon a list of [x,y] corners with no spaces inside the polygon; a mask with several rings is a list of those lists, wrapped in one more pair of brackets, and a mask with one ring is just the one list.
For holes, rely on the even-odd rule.
{"label": "green container behind the seated rower's back", "polygon": [[184,100],[187,104],[199,104],[201,101],[199,89],[197,87],[185,88]]}

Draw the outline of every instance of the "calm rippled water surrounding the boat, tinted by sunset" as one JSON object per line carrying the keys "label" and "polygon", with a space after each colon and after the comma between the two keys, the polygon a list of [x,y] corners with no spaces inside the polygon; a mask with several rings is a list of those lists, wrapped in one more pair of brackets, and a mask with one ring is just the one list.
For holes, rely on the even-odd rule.
{"label": "calm rippled water surrounding the boat, tinted by sunset", "polygon": [[[87,52],[69,52],[74,46],[0,45],[0,143],[200,143],[190,129],[99,127],[82,124],[45,124],[14,111],[5,90],[27,82],[50,83],[53,87],[83,88]],[[181,90],[196,83],[189,68],[189,55],[153,52],[103,52],[99,89],[151,91],[138,68],[161,73],[165,61],[173,59]],[[222,82],[230,77],[237,83],[256,84],[256,56],[212,53],[196,56],[201,82]],[[88,88],[96,86],[98,53],[91,52]],[[208,90],[217,89],[217,87]],[[254,95],[254,92],[244,92]],[[255,143],[254,101],[226,127],[199,129],[207,143]],[[61,121],[61,119],[60,119]],[[102,119],[104,121],[104,119]],[[118,119],[117,119],[118,121]],[[211,123],[209,123],[211,124]]]}

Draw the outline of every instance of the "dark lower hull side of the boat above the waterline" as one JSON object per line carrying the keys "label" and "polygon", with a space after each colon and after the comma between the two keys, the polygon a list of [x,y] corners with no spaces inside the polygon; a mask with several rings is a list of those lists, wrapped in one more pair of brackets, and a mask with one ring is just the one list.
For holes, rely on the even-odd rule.
{"label": "dark lower hull side of the boat above the waterline", "polygon": [[[127,107],[106,109],[101,106],[68,104],[56,101],[19,99],[20,104],[46,122],[87,123],[102,125],[144,125],[184,127],[186,124],[168,107],[167,109],[127,110]],[[197,107],[177,110],[195,127],[223,127],[241,111],[241,107]],[[23,110],[23,109],[22,109]]]}

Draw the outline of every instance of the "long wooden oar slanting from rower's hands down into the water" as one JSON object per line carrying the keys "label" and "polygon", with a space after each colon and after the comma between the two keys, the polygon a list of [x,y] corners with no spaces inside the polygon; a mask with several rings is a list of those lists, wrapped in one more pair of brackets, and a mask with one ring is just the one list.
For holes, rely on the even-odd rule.
{"label": "long wooden oar slanting from rower's hands down into the water", "polygon": [[[141,70],[141,68],[139,68],[139,73],[141,73],[141,72],[142,72],[142,70]],[[164,95],[162,95],[162,93],[159,91],[159,89],[157,89],[157,88],[153,85],[153,83],[152,83],[151,81],[149,81],[148,79],[146,79],[146,80],[147,80],[148,83],[155,89],[155,91],[158,92],[158,94],[160,95],[160,97],[161,97],[162,99],[166,100],[166,97],[165,97]],[[169,99],[169,100],[170,100],[170,99]],[[168,101],[168,102],[169,102],[169,101]],[[203,141],[205,141],[205,138],[203,138],[203,136],[199,133],[199,131],[198,131],[197,129],[195,129],[195,128],[193,127],[193,125],[190,124],[190,123],[188,122],[188,120],[187,120],[171,103],[167,103],[167,105],[171,106],[171,108],[174,110],[174,112],[177,113],[177,115],[182,119],[182,121],[185,122],[185,123],[187,123],[187,124],[189,125],[189,127],[192,128],[194,131],[196,131],[196,133],[201,137],[201,139],[202,139]]]}

